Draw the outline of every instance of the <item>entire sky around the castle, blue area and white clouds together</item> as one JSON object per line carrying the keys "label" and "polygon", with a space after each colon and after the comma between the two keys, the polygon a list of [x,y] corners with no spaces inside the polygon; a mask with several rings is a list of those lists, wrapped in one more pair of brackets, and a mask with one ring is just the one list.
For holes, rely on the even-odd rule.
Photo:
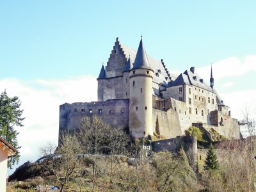
{"label": "entire sky around the castle, blue area and white clouds together", "polygon": [[147,54],[169,72],[194,66],[206,83],[212,63],[216,90],[243,118],[256,98],[255,10],[256,1],[234,0],[0,0],[0,91],[19,96],[26,116],[20,164],[57,143],[60,104],[97,100],[116,36],[137,49],[143,33]]}

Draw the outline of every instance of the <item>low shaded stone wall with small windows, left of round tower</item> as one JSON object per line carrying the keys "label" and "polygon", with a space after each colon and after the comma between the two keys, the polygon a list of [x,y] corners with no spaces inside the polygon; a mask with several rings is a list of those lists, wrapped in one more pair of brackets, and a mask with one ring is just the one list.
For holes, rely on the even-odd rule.
{"label": "low shaded stone wall with small windows, left of round tower", "polygon": [[104,102],[75,102],[60,106],[59,136],[63,130],[78,129],[84,116],[97,115],[113,127],[124,129],[129,125],[129,99],[106,100]]}

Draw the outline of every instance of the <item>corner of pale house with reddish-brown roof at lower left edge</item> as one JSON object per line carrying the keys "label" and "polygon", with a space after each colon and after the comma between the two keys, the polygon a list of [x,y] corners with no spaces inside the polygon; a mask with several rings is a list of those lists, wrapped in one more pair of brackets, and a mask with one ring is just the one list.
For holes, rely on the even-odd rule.
{"label": "corner of pale house with reddish-brown roof at lower left edge", "polygon": [[0,138],[0,191],[6,191],[6,175],[8,157],[15,156],[17,149],[3,138]]}

